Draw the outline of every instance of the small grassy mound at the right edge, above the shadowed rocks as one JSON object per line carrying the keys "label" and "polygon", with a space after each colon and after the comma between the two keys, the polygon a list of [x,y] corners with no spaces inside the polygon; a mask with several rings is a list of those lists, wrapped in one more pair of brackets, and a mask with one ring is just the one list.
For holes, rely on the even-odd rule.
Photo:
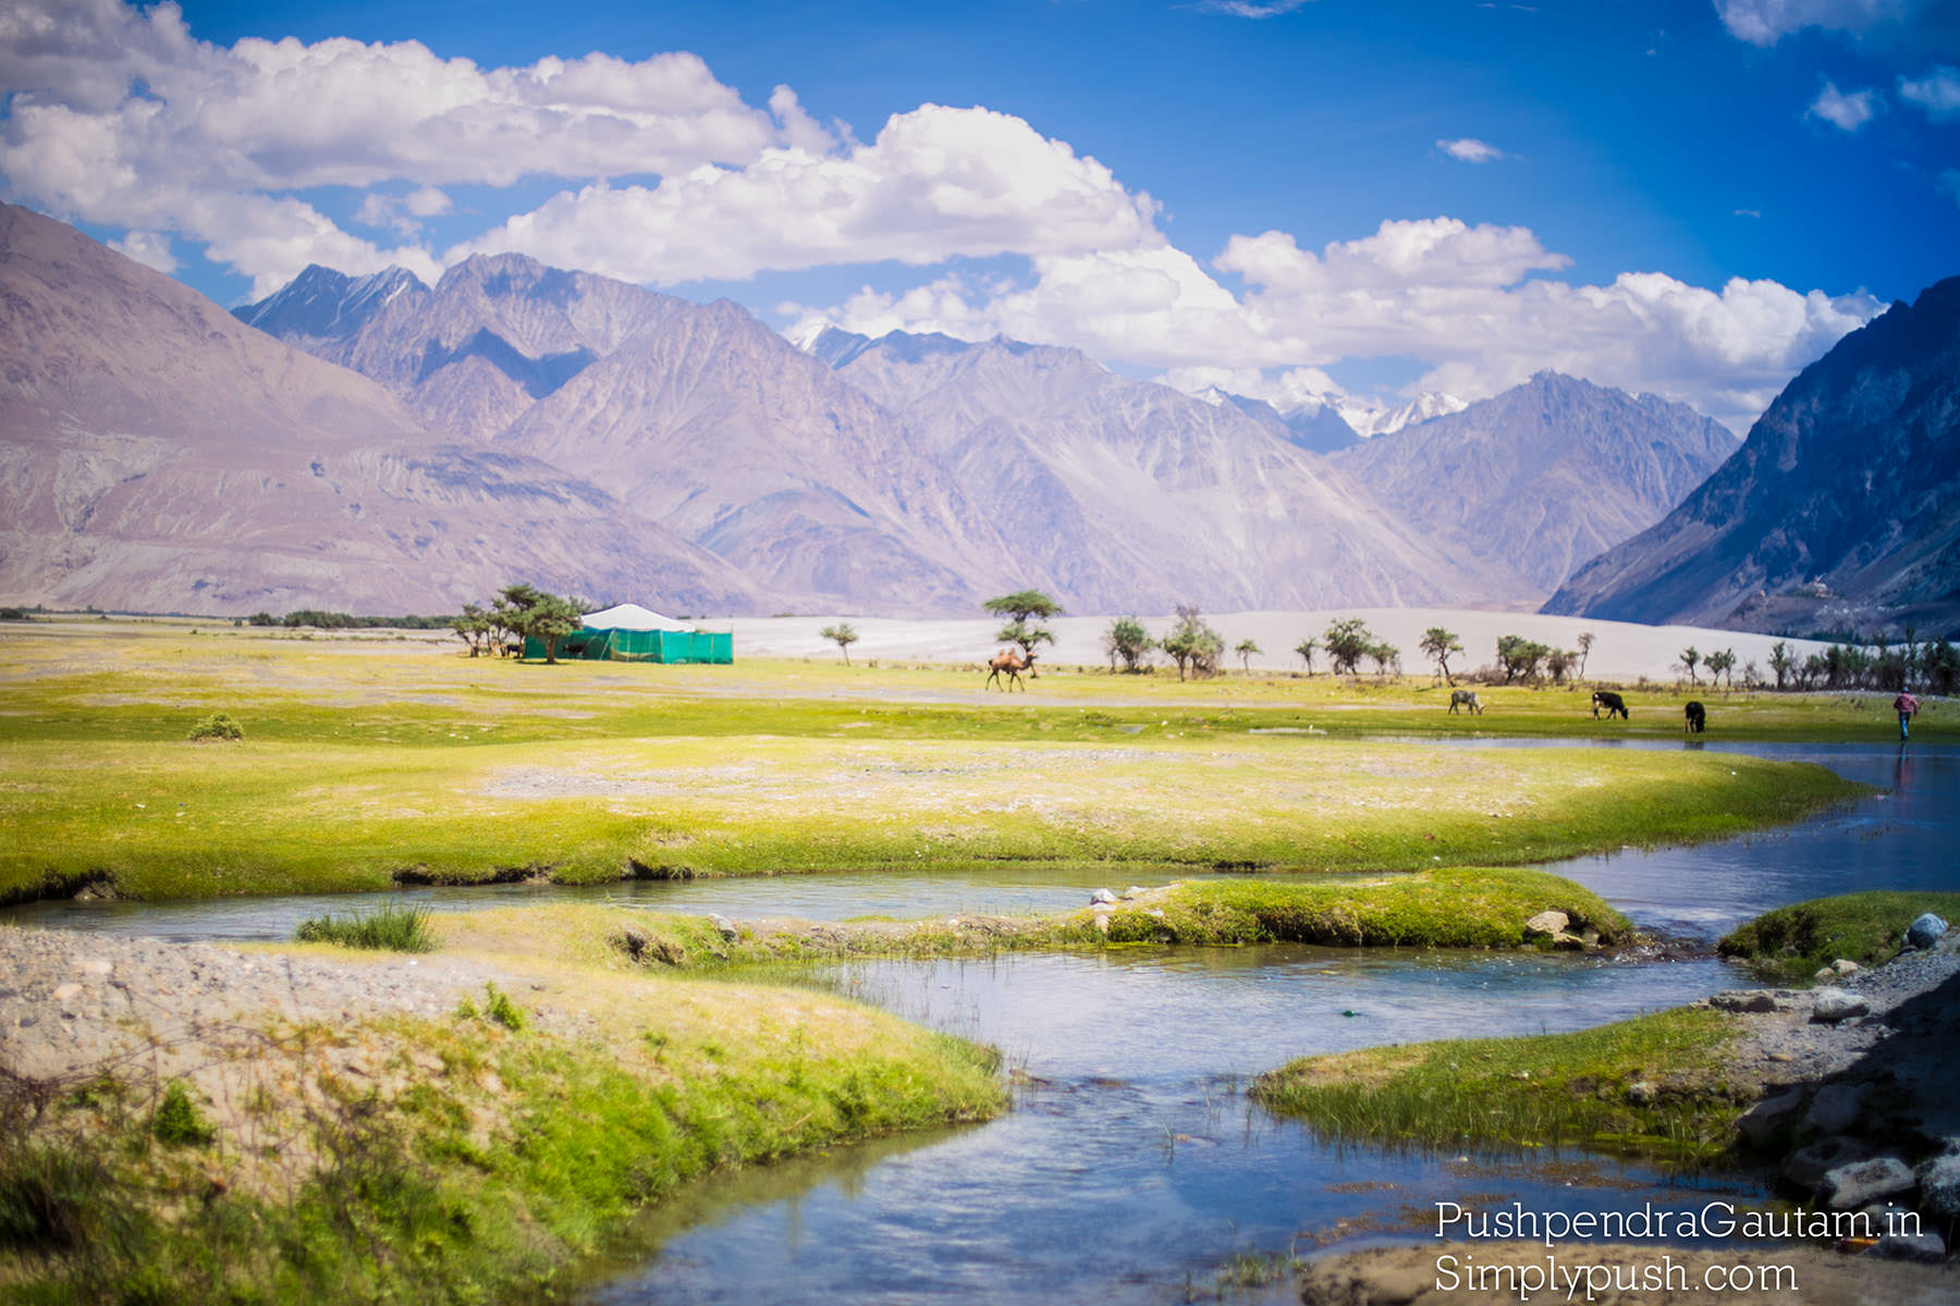
{"label": "small grassy mound at the right edge, above the shadowed rocks", "polygon": [[1891,961],[1905,926],[1923,912],[1960,920],[1960,893],[1870,891],[1791,903],[1737,926],[1717,948],[1768,977],[1809,983],[1838,957],[1858,965]]}

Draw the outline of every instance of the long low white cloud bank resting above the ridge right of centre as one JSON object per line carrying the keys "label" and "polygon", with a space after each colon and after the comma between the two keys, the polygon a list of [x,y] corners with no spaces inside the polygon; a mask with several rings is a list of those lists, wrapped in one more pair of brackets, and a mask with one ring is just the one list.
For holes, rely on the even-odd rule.
{"label": "long low white cloud bank resting above the ridge right of centre", "polygon": [[1043,257],[1021,284],[866,288],[829,309],[800,309],[800,325],[1074,345],[1192,390],[1217,384],[1276,403],[1337,394],[1327,370],[1350,358],[1421,358],[1429,370],[1411,394],[1466,399],[1550,366],[1680,399],[1740,429],[1882,307],[1864,294],[1766,280],[1707,290],[1658,272],[1603,286],[1541,276],[1568,262],[1525,227],[1386,221],[1321,251],[1282,231],[1239,235],[1211,270],[1168,245]]}

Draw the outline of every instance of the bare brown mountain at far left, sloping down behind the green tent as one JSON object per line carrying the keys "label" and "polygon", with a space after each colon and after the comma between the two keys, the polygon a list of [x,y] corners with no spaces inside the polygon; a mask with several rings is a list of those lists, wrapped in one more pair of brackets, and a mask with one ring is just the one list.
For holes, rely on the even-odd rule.
{"label": "bare brown mountain at far left, sloping down behind the green tent", "polygon": [[0,593],[251,613],[455,611],[525,578],[749,603],[719,558],[73,227],[0,208]]}

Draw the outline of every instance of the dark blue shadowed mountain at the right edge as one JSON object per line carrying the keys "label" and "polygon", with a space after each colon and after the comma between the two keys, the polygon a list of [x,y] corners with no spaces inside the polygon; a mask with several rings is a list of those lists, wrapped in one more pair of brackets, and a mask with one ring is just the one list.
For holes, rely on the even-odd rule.
{"label": "dark blue shadowed mountain at the right edge", "polygon": [[1544,611],[1797,632],[1960,625],[1960,278],[1838,341],[1699,490]]}

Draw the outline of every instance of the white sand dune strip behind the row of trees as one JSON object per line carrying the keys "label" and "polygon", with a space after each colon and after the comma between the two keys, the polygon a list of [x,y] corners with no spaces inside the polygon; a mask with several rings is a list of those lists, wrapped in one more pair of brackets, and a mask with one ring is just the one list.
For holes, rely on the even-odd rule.
{"label": "white sand dune strip behind the row of trees", "polygon": [[[1417,642],[1429,627],[1454,630],[1464,652],[1450,660],[1450,670],[1470,670],[1495,662],[1499,634],[1523,634],[1525,638],[1550,644],[1554,648],[1578,648],[1578,636],[1592,630],[1593,646],[1586,664],[1588,679],[1650,679],[1672,681],[1680,672],[1682,650],[1690,644],[1701,654],[1717,648],[1733,648],[1737,674],[1744,662],[1756,662],[1762,676],[1770,676],[1770,634],[1744,634],[1740,630],[1709,630],[1697,627],[1642,627],[1627,621],[1592,621],[1586,617],[1546,617],[1541,613],[1490,613],[1470,609],[1431,609],[1431,607],[1352,607],[1327,609],[1317,613],[1217,613],[1209,615],[1211,627],[1225,636],[1227,650],[1239,640],[1254,640],[1262,652],[1252,654],[1252,666],[1264,670],[1298,670],[1299,656],[1294,646],[1321,632],[1335,621],[1360,617],[1376,636],[1401,648],[1403,672],[1427,674],[1429,662]],[[858,642],[851,646],[853,662],[886,658],[894,662],[951,662],[982,664],[1002,644],[994,638],[1002,623],[994,617],[974,617],[970,621],[911,621],[898,617],[737,617],[735,656],[776,656],[776,658],[835,658],[837,646],[819,632],[823,627],[849,621]],[[1174,617],[1143,617],[1143,625],[1152,634],[1170,630]],[[1056,664],[1102,664],[1107,654],[1102,648],[1103,630],[1109,617],[1056,617],[1045,623],[1054,630],[1054,646],[1045,650],[1047,662]],[[715,623],[715,629],[725,629]],[[1788,640],[1797,656],[1817,652],[1823,644],[1813,640]],[[1227,666],[1237,668],[1237,654],[1227,654]],[[1315,652],[1315,670],[1327,670],[1327,656]]]}

